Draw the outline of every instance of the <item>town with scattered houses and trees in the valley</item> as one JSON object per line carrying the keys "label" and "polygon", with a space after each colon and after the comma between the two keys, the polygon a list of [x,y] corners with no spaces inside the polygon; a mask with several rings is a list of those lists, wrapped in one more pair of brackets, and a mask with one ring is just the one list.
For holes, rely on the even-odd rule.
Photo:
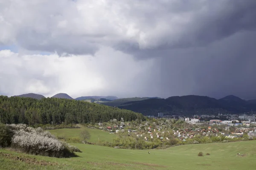
{"label": "town with scattered houses and trees in the valley", "polygon": [[[223,118],[226,117],[226,120]],[[209,119],[215,118],[215,119]],[[221,118],[221,119],[216,119]],[[117,134],[118,138],[143,139],[157,142],[156,147],[169,147],[180,144],[199,144],[212,142],[235,142],[256,139],[256,114],[253,115],[194,115],[186,116],[148,116],[145,122],[131,121],[99,123],[99,129]],[[209,121],[207,121],[209,119]],[[130,140],[131,141],[131,140]],[[111,146],[124,147],[124,142]],[[132,148],[133,147],[127,147]],[[150,148],[150,147],[149,147]],[[153,147],[154,148],[154,147]],[[145,147],[148,149],[148,147]]]}

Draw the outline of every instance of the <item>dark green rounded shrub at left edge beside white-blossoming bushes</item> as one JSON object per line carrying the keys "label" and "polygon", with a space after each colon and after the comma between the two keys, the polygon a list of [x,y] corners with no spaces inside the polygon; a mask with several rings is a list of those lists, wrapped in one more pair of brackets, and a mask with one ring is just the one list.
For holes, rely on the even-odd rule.
{"label": "dark green rounded shrub at left edge beside white-blossoming bushes", "polygon": [[0,124],[0,147],[8,147],[12,144],[13,132],[8,126]]}

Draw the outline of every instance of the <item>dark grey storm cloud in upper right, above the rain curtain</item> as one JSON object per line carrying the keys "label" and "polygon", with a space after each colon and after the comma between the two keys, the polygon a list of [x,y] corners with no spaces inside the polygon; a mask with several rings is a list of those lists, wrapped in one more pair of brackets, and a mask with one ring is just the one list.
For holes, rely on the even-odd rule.
{"label": "dark grey storm cloud in upper right, above the rain curtain", "polygon": [[[174,4],[166,4],[163,7],[164,10],[159,10],[159,14],[148,14],[150,20],[146,24],[151,26],[157,24],[152,20],[161,20],[161,15],[168,16],[171,14],[172,16],[175,13],[190,12],[192,16],[191,20],[180,28],[182,31],[177,31],[175,35],[169,34],[175,25],[169,25],[170,30],[166,31],[166,36],[161,37],[153,48],[140,49],[137,42],[119,42],[114,48],[134,54],[138,58],[158,57],[165,53],[163,50],[206,46],[237,32],[256,29],[256,1],[254,0],[217,0],[198,3],[198,6],[195,4],[188,5],[187,1],[176,1]],[[197,12],[202,8],[205,10]],[[168,18],[165,19],[168,23]],[[155,39],[151,39],[151,41],[154,42]]]}

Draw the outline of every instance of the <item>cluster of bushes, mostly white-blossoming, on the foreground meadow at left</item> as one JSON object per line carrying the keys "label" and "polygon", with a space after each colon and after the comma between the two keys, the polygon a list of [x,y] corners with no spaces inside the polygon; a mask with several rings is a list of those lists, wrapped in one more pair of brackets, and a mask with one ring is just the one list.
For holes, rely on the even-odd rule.
{"label": "cluster of bushes, mostly white-blossoming, on the foreground meadow at left", "polygon": [[[77,147],[59,141],[54,135],[44,131],[41,127],[35,129],[24,124],[12,124],[0,125],[0,132],[2,132],[1,130],[6,130],[6,132],[9,130],[8,133],[12,134],[5,136],[5,141],[9,141],[9,143],[3,145],[3,147],[11,145],[12,148],[25,153],[57,158],[75,156],[73,152],[81,152]],[[0,133],[0,136],[2,136],[2,133]]]}

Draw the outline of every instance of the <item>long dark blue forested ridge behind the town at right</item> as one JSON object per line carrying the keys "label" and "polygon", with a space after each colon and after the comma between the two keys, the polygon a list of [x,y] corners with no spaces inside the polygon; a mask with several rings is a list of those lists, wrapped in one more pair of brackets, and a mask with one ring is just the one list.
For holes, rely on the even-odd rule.
{"label": "long dark blue forested ridge behind the town at right", "polygon": [[[111,102],[115,102],[115,100]],[[106,102],[104,105],[111,102]],[[247,102],[233,95],[222,99],[196,95],[172,96],[167,99],[155,98],[124,102],[117,106],[144,115],[157,115],[158,112],[163,112],[166,115],[244,113],[251,109],[256,110],[256,103],[253,101]]]}

